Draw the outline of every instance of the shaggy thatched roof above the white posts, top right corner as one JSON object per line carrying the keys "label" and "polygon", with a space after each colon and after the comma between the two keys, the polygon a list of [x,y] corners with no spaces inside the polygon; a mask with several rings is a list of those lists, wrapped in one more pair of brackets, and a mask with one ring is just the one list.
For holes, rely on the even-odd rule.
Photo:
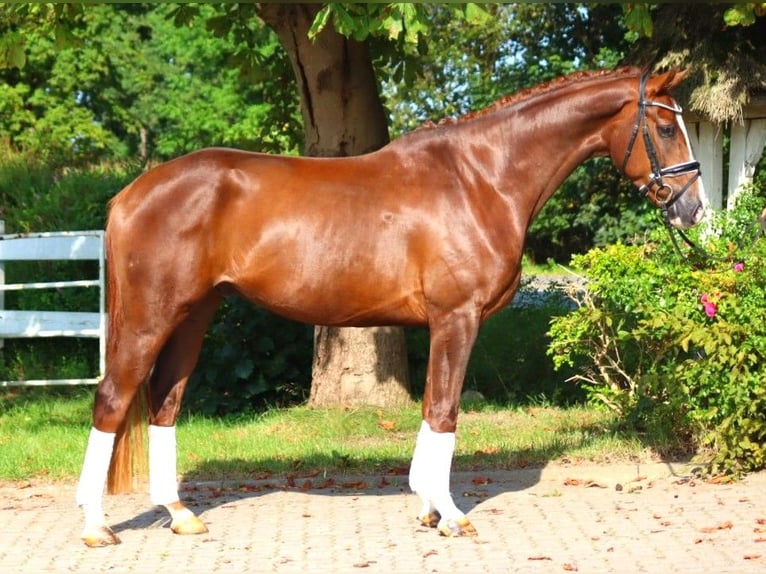
{"label": "shaggy thatched roof above the white posts, top right corner", "polygon": [[663,4],[653,13],[654,34],[640,40],[625,63],[657,69],[688,68],[680,94],[691,111],[714,122],[741,120],[743,108],[766,94],[766,17],[727,27],[727,4]]}

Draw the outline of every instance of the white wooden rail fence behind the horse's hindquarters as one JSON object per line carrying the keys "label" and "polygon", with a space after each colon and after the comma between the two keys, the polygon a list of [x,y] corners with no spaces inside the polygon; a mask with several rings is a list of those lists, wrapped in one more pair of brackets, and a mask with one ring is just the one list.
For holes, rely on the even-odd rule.
{"label": "white wooden rail fence behind the horse's hindquarters", "polygon": [[[0,221],[0,233],[5,231]],[[0,344],[3,339],[90,337],[99,340],[99,373],[86,379],[0,381],[0,387],[94,384],[104,373],[106,354],[104,232],[64,231],[0,235]],[[5,283],[6,261],[97,260],[98,278],[35,283]],[[8,310],[4,293],[23,289],[99,288],[99,308],[92,312]],[[0,351],[1,352],[1,351]]]}

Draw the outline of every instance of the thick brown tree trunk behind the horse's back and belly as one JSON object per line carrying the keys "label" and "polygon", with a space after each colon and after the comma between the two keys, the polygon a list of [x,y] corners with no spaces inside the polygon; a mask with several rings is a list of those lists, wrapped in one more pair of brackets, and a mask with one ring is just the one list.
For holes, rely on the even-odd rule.
{"label": "thick brown tree trunk behind the horse's back and belly", "polygon": [[[261,4],[261,18],[287,51],[301,93],[309,156],[347,156],[388,142],[388,126],[365,42],[328,25],[315,41],[308,30],[321,5]],[[410,400],[407,352],[400,327],[315,327],[311,406]]]}

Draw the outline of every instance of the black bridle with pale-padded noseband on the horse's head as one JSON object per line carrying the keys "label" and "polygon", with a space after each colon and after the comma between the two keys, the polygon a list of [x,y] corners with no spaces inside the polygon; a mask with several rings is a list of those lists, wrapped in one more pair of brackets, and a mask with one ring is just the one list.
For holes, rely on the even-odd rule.
{"label": "black bridle with pale-padded noseband on the horse's head", "polygon": [[[649,163],[652,166],[652,173],[649,175],[649,181],[642,185],[638,192],[646,197],[649,192],[655,188],[655,198],[659,207],[662,209],[663,216],[666,222],[668,219],[668,208],[673,205],[691,185],[697,181],[701,172],[700,164],[696,160],[685,161],[683,163],[677,163],[668,167],[661,167],[659,159],[657,158],[657,150],[652,143],[652,136],[649,133],[649,122],[646,119],[646,108],[648,106],[654,106],[656,108],[662,108],[679,115],[683,112],[680,107],[672,107],[660,102],[654,102],[645,98],[646,94],[646,82],[649,78],[649,74],[643,74],[638,88],[638,117],[636,123],[633,126],[633,133],[630,135],[630,141],[628,142],[628,148],[625,150],[625,159],[622,162],[622,172],[625,173],[625,168],[628,165],[630,155],[633,153],[633,145],[636,143],[636,137],[638,136],[638,130],[643,125],[644,146],[646,147],[646,153],[649,156]],[[694,177],[689,179],[686,184],[679,190],[676,190],[672,185],[666,183],[664,178],[674,178],[681,175],[693,173]]]}

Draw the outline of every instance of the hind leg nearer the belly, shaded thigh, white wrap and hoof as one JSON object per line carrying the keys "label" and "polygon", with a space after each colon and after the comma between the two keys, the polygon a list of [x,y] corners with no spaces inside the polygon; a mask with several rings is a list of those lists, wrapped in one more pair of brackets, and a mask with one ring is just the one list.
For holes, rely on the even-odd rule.
{"label": "hind leg nearer the belly, shaded thigh, white wrap and hoof", "polygon": [[175,421],[220,300],[220,295],[211,293],[176,328],[157,358],[149,383],[149,496],[152,504],[170,512],[170,528],[176,534],[207,532],[178,496]]}

